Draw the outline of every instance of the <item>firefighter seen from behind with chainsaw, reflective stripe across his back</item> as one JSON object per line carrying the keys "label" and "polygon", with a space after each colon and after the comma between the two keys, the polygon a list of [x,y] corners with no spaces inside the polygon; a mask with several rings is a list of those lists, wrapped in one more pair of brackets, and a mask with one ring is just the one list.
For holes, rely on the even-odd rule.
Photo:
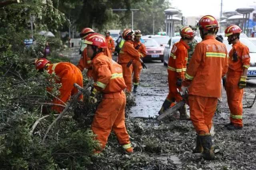
{"label": "firefighter seen from behind with chainsaw, reflective stripe across his back", "polygon": [[221,94],[221,78],[228,71],[228,55],[225,44],[215,39],[219,26],[213,16],[202,17],[198,27],[203,41],[195,47],[181,89],[183,92],[188,89],[190,118],[198,134],[193,153],[212,160],[210,129]]}

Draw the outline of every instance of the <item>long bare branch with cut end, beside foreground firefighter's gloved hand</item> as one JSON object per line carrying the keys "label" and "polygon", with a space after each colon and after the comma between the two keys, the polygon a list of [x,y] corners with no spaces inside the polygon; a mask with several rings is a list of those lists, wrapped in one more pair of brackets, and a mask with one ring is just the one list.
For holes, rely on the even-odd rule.
{"label": "long bare branch with cut end, beside foreground firefighter's gloved hand", "polygon": [[[52,122],[52,124],[49,125],[49,127],[47,128],[46,133],[44,134],[44,138],[43,138],[43,141],[42,141],[43,143],[44,143],[44,141],[45,141],[45,139],[46,139],[47,134],[49,133],[50,129],[52,128],[52,126],[53,126],[57,121],[59,121],[59,120],[62,118],[62,116],[66,113],[66,111],[68,111],[68,109],[69,109],[70,106],[73,104],[73,102],[74,102],[80,95],[82,95],[82,93],[83,93],[84,90],[86,90],[86,89],[83,89],[82,87],[80,87],[80,86],[79,86],[78,84],[76,84],[76,83],[74,83],[74,87],[76,87],[76,88],[79,90],[78,93],[76,93],[76,95],[73,97],[73,99],[70,100],[70,103],[68,103],[68,105],[66,105],[65,109],[60,113],[60,115],[57,117],[57,119],[55,119],[55,120]],[[88,91],[88,90],[87,90],[87,91]],[[90,91],[88,91],[88,93],[90,93]],[[58,124],[57,124],[57,126],[58,126]]]}

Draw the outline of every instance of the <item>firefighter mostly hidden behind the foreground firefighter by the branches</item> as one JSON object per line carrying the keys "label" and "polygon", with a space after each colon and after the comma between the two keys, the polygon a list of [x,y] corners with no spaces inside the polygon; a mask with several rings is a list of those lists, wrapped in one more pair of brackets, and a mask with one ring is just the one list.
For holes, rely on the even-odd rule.
{"label": "firefighter mostly hidden behind the foreground firefighter by the branches", "polygon": [[[94,30],[91,28],[83,28],[82,31],[80,32],[80,37],[83,40],[82,42],[84,43],[85,38],[89,35],[94,33]],[[108,57],[112,58],[112,54],[109,51],[109,49],[104,50],[104,54],[107,55]],[[87,77],[92,78],[92,65],[91,65],[91,59],[87,57],[86,54],[86,48],[82,51],[82,57],[80,58],[80,61],[76,65],[80,69],[81,72],[84,71],[84,68],[88,69],[87,70]]]}

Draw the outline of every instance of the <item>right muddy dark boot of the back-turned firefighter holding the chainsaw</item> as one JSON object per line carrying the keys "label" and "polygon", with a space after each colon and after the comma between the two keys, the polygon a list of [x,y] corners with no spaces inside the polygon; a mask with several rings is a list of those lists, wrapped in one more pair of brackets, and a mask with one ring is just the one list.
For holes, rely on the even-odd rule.
{"label": "right muddy dark boot of the back-turned firefighter holding the chainsaw", "polygon": [[214,159],[214,147],[212,146],[212,136],[210,134],[204,136],[198,136],[200,142],[204,148],[202,152],[202,157],[206,160]]}

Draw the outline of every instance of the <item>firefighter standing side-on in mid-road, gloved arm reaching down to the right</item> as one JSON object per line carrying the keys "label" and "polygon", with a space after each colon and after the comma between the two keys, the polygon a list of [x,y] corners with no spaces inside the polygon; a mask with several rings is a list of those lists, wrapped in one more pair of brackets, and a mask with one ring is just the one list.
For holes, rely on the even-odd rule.
{"label": "firefighter standing side-on in mid-road, gloved arm reaching down to the right", "polygon": [[140,59],[140,53],[133,46],[134,42],[134,33],[130,29],[124,30],[122,34],[125,42],[122,46],[122,49],[119,52],[118,63],[122,65],[124,82],[127,86],[128,91],[132,91],[132,61],[140,61],[143,68],[146,68],[146,65]]}

